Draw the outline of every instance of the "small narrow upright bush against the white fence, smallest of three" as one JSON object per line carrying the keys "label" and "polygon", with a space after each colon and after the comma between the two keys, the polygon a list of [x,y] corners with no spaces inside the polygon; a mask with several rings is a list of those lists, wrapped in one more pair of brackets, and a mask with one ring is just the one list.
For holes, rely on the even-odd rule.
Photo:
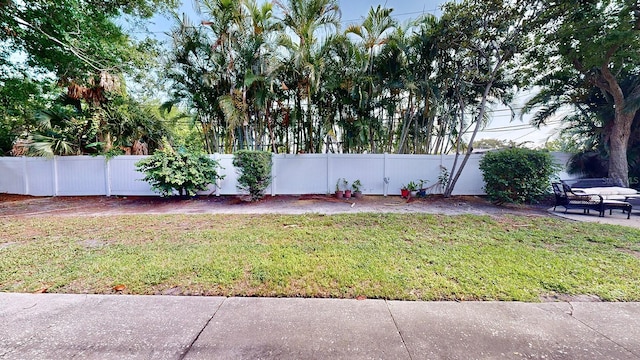
{"label": "small narrow upright bush against the white fence, smallest of three", "polygon": [[249,192],[251,201],[264,196],[271,184],[271,153],[240,150],[234,154],[233,166],[238,169],[238,189]]}

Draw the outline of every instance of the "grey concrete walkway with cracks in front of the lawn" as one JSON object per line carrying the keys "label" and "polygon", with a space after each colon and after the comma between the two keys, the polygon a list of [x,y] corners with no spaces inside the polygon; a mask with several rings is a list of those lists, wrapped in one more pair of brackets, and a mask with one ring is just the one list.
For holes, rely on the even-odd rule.
{"label": "grey concrete walkway with cracks in front of the lawn", "polygon": [[0,293],[2,359],[639,359],[640,303]]}

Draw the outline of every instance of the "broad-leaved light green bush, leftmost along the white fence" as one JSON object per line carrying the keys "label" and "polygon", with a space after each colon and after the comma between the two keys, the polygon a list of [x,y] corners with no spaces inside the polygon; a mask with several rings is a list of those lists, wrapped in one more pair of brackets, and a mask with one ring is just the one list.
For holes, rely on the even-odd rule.
{"label": "broad-leaved light green bush, leftmost along the white fence", "polygon": [[174,190],[180,196],[195,196],[224,177],[218,175],[218,167],[207,155],[175,151],[171,146],[136,163],[137,170],[145,173],[143,180],[162,196],[172,195]]}

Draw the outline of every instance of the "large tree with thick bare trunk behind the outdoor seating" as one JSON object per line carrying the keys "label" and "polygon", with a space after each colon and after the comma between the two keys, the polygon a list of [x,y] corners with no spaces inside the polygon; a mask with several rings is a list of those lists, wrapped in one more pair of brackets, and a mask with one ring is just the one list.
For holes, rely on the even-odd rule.
{"label": "large tree with thick bare trunk behind the outdoor seating", "polygon": [[[569,80],[570,84],[585,88],[582,98],[572,99],[578,106],[586,105],[582,109],[589,106],[586,103],[589,88],[595,87],[603,94],[613,110],[603,119],[608,124],[604,140],[609,176],[628,184],[627,151],[640,107],[639,3],[636,0],[532,3],[541,9],[532,59],[544,76],[536,83],[543,88],[558,89],[558,82]],[[633,80],[623,86],[625,79]],[[540,120],[553,113],[547,111]]]}

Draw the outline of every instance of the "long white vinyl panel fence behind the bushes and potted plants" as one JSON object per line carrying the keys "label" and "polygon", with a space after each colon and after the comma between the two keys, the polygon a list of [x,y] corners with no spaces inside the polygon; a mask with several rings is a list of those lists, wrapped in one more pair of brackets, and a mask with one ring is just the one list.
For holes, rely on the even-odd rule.
{"label": "long white vinyl panel fence behind the bushes and potted plants", "polygon": [[[554,153],[564,166],[568,154]],[[233,155],[211,155],[225,175],[218,187],[201,194],[235,195],[239,191]],[[118,156],[111,159],[91,156],[0,157],[0,193],[33,196],[82,195],[157,195],[141,179],[135,163],[144,156]],[[483,195],[482,173],[478,166],[482,155],[473,154],[460,177],[454,195]],[[460,158],[462,159],[462,157]],[[333,193],[336,181],[345,178],[351,184],[362,183],[362,192],[371,195],[399,195],[400,187],[420,179],[427,186],[438,181],[440,165],[451,169],[453,155],[351,155],[302,154],[273,155],[271,195]],[[569,177],[566,173],[561,178]],[[386,180],[386,181],[385,181]]]}

